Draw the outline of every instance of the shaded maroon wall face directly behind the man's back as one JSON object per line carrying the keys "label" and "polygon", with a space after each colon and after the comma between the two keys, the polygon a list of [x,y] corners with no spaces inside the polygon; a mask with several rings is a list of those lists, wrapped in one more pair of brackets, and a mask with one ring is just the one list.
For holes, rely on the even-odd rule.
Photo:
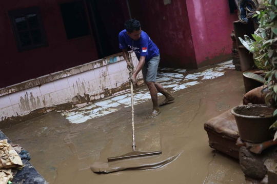
{"label": "shaded maroon wall face directly behind the man's back", "polygon": [[147,32],[161,53],[161,66],[196,68],[188,11],[185,0],[141,0]]}

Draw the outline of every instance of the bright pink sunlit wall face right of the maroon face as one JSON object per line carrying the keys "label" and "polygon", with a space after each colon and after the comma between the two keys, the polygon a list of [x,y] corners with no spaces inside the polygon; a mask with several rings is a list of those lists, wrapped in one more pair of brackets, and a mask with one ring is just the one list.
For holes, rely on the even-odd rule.
{"label": "bright pink sunlit wall face right of the maroon face", "polygon": [[186,0],[197,67],[230,58],[230,34],[236,14],[230,14],[227,0]]}

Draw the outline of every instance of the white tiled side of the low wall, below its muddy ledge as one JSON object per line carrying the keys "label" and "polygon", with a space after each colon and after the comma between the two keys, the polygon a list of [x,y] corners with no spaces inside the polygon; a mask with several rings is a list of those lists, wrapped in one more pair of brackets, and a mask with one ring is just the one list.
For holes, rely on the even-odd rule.
{"label": "white tiled side of the low wall, below its muddy ledge", "polygon": [[[134,53],[130,54],[136,67],[137,58]],[[17,114],[26,115],[43,107],[69,103],[77,93],[81,96],[84,96],[84,93],[89,94],[91,100],[100,99],[105,97],[101,93],[106,89],[120,87],[129,81],[129,70],[122,56],[85,65],[91,70],[0,96],[0,121]],[[141,72],[138,78],[142,78]]]}

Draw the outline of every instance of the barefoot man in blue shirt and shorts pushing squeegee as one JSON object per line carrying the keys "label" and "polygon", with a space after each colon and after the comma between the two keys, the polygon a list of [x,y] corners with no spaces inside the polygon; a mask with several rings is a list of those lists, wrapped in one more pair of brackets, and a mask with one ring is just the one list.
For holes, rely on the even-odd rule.
{"label": "barefoot man in blue shirt and shorts pushing squeegee", "polygon": [[130,81],[137,86],[136,76],[142,70],[144,82],[149,88],[153,103],[153,111],[147,118],[156,117],[161,113],[157,102],[157,92],[162,93],[166,97],[160,106],[174,100],[174,97],[162,85],[156,83],[157,68],[160,63],[160,51],[147,33],[142,31],[140,22],[130,19],[126,21],[124,26],[125,30],[120,32],[118,38],[120,49],[123,50],[123,57],[127,62],[127,68],[131,71],[134,67],[129,57],[128,47],[135,52],[137,59],[140,61]]}

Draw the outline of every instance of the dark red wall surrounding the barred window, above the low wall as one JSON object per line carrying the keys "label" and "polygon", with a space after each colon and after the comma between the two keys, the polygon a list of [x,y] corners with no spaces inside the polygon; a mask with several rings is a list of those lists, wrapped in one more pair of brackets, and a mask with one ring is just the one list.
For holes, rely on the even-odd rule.
{"label": "dark red wall surrounding the barred window, above the low wall", "polygon": [[[0,4],[0,88],[98,59],[92,36],[67,40],[62,0],[5,1]],[[48,47],[18,52],[8,10],[39,6]]]}

